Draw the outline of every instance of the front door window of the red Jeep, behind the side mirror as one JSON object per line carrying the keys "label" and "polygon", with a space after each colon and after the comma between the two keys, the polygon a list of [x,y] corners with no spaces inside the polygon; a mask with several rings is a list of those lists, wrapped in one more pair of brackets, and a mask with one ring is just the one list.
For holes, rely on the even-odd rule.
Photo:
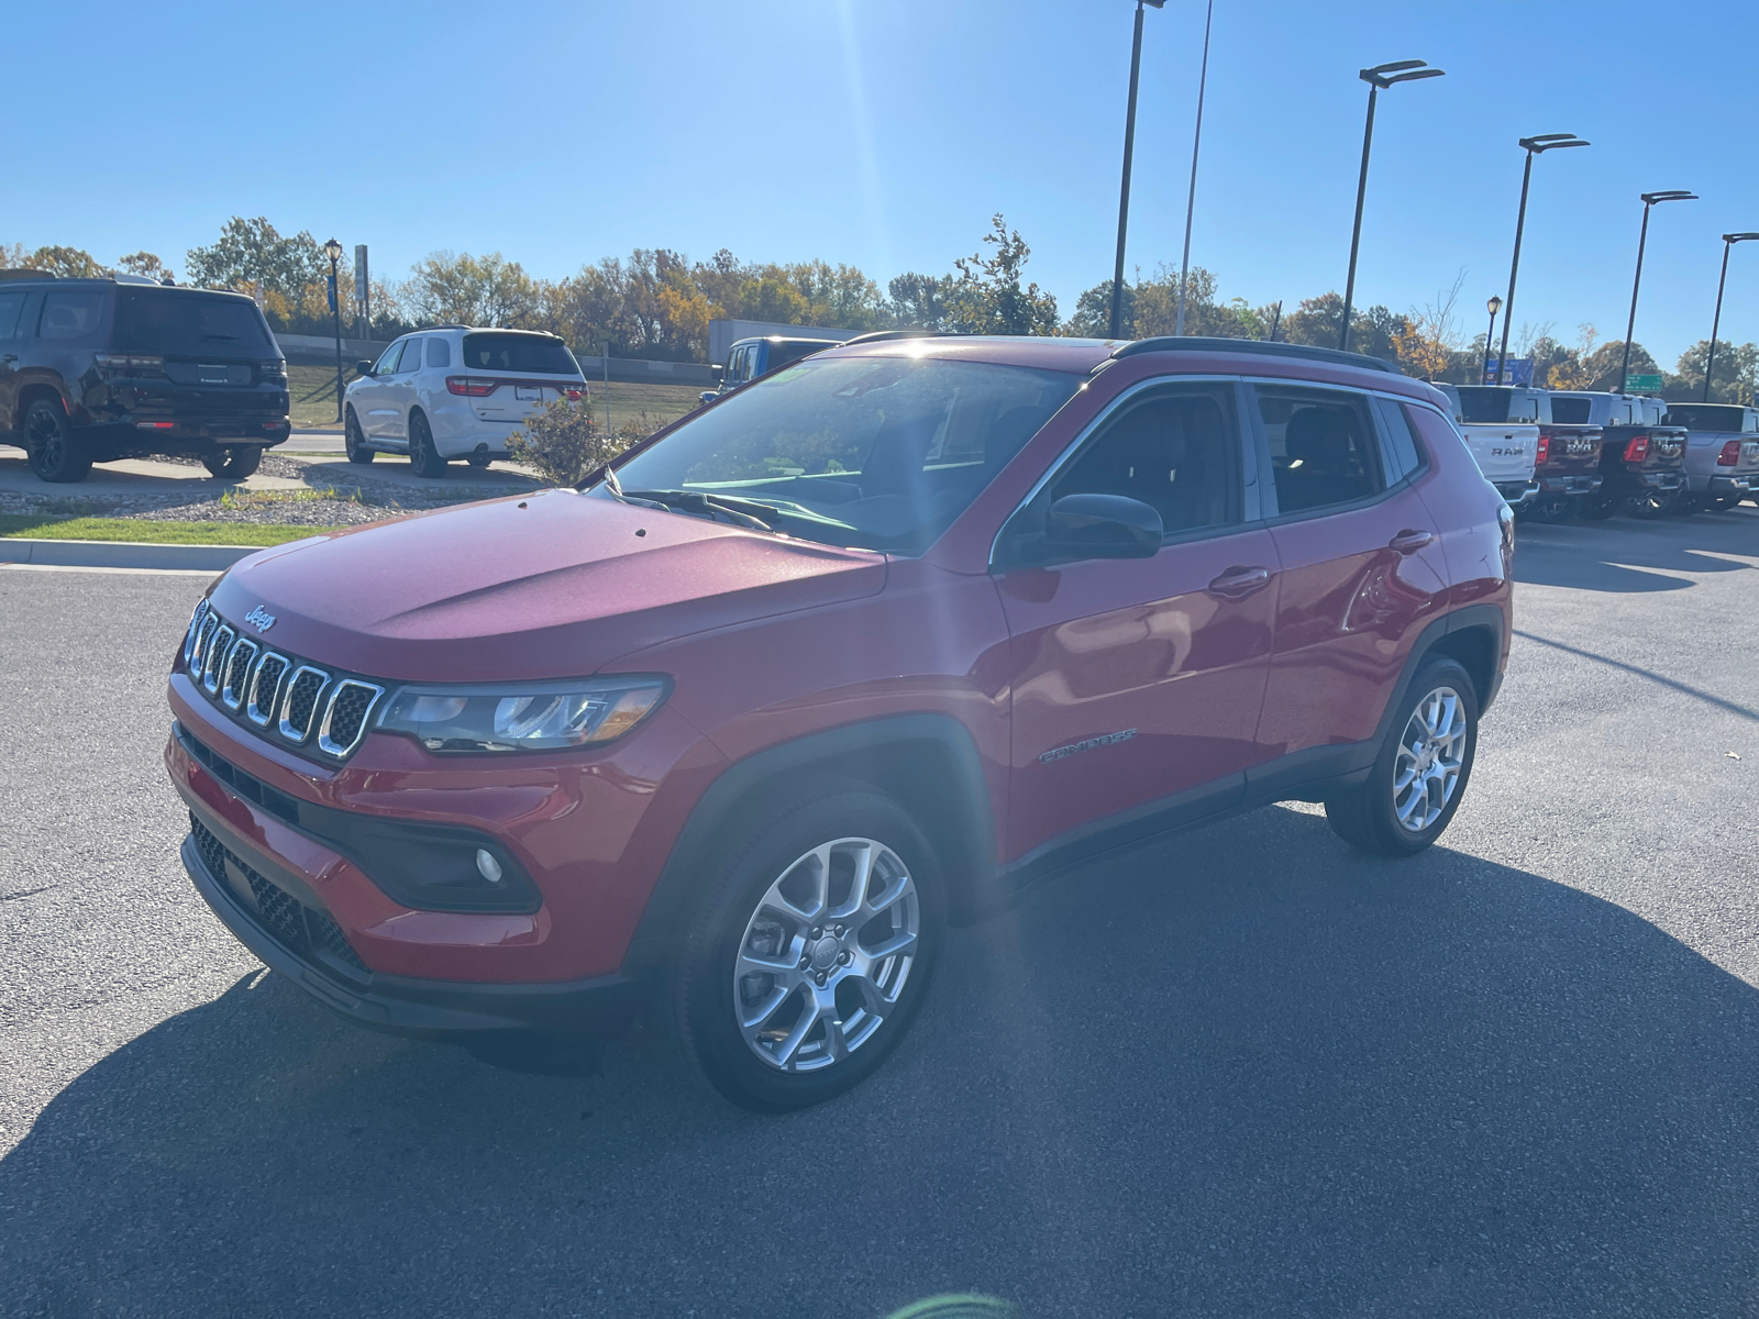
{"label": "front door window of the red Jeep, behind the side mirror", "polygon": [[1238,436],[1231,389],[1159,390],[1106,422],[1050,487],[1050,498],[1140,499],[1161,515],[1168,535],[1228,526],[1240,521]]}

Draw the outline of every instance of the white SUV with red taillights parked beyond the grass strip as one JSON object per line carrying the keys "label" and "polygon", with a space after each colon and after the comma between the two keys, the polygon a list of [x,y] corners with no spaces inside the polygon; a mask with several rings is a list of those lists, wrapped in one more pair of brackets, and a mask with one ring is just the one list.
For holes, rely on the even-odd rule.
{"label": "white SUV with red taillights parked beyond the grass strip", "polygon": [[584,399],[586,376],[554,334],[440,325],[361,362],[343,394],[348,461],[408,454],[420,477],[447,463],[485,468],[540,403]]}

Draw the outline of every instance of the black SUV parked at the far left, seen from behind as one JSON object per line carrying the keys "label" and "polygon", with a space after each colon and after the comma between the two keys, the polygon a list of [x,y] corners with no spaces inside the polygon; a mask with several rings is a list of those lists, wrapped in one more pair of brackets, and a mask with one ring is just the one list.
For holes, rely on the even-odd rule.
{"label": "black SUV parked at the far left, seen from behind", "polygon": [[248,477],[288,436],[287,359],[252,299],[19,274],[0,281],[0,440],[42,480],[146,454]]}

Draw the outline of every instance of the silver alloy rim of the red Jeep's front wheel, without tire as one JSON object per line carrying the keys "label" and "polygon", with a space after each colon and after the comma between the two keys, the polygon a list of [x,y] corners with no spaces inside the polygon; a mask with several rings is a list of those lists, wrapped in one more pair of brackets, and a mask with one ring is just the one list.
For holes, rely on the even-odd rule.
{"label": "silver alloy rim of the red Jeep's front wheel, without tire", "polygon": [[739,941],[746,1046],[786,1073],[844,1060],[899,1004],[920,934],[916,883],[895,851],[874,839],[813,848],[769,886]]}

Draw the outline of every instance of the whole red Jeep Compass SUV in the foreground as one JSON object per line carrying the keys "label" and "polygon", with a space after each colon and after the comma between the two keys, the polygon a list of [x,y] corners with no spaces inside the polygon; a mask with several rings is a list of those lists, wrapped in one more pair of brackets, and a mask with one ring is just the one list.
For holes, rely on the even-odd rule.
{"label": "whole red Jeep Compass SUV in the foreground", "polygon": [[1434,842],[1511,528],[1442,396],[1369,357],[874,336],[579,489],[227,572],[171,674],[183,862],[361,1025],[647,1001],[728,1099],[799,1108],[1048,871],[1286,798]]}

